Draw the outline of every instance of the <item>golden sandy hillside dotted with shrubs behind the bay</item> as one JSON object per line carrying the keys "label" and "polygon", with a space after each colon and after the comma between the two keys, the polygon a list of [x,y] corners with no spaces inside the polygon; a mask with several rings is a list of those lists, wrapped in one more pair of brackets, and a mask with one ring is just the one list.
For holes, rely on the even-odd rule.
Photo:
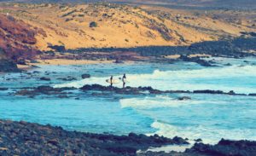
{"label": "golden sandy hillside dotted with shrubs behind the bay", "polygon": [[35,30],[32,47],[39,50],[53,45],[66,49],[189,45],[238,37],[240,32],[256,29],[252,24],[254,12],[236,13],[234,17],[232,12],[206,14],[113,3],[1,3],[0,11]]}

